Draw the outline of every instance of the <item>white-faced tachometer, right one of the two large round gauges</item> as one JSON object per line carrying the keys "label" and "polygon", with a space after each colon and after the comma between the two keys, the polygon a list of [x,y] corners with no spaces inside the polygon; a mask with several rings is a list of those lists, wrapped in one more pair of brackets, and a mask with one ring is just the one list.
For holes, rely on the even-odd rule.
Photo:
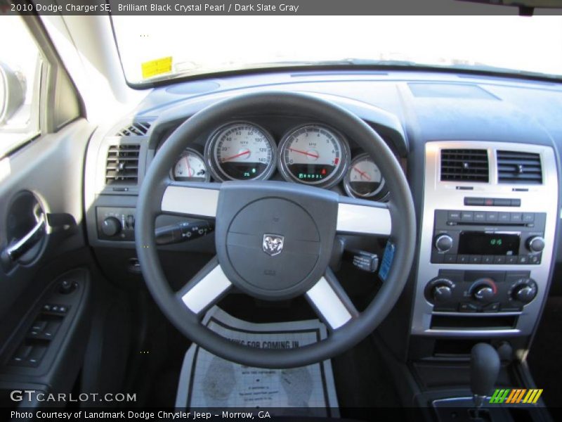
{"label": "white-faced tachometer, right one of the two large round gauges", "polygon": [[280,143],[280,171],[288,181],[330,187],[343,177],[349,146],[341,134],[320,124],[292,129]]}

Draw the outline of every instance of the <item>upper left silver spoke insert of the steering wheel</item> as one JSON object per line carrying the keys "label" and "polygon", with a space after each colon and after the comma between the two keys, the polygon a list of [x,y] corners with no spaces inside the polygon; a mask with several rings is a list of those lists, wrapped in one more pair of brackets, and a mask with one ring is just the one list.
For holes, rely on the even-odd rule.
{"label": "upper left silver spoke insert of the steering wheel", "polygon": [[193,217],[216,217],[220,183],[171,182],[164,189],[161,210]]}

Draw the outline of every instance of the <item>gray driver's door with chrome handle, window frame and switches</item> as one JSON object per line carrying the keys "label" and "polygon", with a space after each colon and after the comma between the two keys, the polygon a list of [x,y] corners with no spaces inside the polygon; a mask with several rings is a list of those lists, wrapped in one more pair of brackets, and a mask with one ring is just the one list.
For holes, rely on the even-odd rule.
{"label": "gray driver's door with chrome handle, window frame and switches", "polygon": [[[0,160],[0,404],[27,407],[37,403],[5,393],[26,385],[69,392],[84,365],[96,273],[84,229],[84,158],[95,128],[81,117],[79,93],[39,17],[13,16],[3,30],[27,37],[37,58],[20,60],[22,43],[0,49],[2,59],[27,69],[20,74],[26,100],[0,122],[0,156],[12,151]],[[24,133],[13,121],[37,129]],[[41,135],[22,143],[30,133]],[[13,134],[21,139],[11,141]]]}

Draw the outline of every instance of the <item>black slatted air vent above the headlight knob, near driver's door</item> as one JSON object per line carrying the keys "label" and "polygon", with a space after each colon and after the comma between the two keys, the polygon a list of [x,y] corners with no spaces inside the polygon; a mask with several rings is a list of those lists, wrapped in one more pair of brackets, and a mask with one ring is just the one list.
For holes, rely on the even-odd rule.
{"label": "black slatted air vent above the headlight knob, near driver's door", "polygon": [[105,184],[136,184],[140,151],[138,143],[110,146],[105,165]]}

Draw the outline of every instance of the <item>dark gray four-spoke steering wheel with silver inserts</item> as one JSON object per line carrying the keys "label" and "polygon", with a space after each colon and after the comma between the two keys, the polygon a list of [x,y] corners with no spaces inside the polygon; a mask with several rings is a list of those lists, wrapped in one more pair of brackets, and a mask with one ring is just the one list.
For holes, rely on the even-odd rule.
{"label": "dark gray four-spoke steering wheel with silver inserts", "polygon": [[[377,162],[391,192],[388,203],[358,200],[285,181],[170,181],[186,140],[235,115],[290,113],[329,122]],[[214,257],[177,292],[166,281],[155,242],[157,215],[216,219]],[[391,269],[370,305],[358,312],[329,269],[336,234],[388,237]],[[396,304],[414,256],[416,223],[406,178],[390,148],[359,117],[306,94],[244,94],[204,108],[183,122],[150,164],[136,208],[136,252],[150,293],[181,333],[219,357],[248,366],[291,368],[320,362],[372,333]],[[281,246],[280,246],[281,245]],[[233,288],[262,300],[305,295],[327,338],[289,350],[238,345],[201,324],[204,312]]]}

